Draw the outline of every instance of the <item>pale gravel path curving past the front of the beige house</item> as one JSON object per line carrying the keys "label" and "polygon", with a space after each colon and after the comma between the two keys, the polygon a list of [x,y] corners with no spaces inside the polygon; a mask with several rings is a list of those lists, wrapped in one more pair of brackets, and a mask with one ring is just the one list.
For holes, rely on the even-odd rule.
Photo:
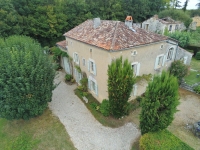
{"label": "pale gravel path curving past the front of the beige house", "polygon": [[49,103],[53,114],[58,116],[78,150],[129,150],[140,131],[134,124],[128,123],[120,128],[102,126],[74,95],[75,85],[64,83],[64,73],[59,72]]}

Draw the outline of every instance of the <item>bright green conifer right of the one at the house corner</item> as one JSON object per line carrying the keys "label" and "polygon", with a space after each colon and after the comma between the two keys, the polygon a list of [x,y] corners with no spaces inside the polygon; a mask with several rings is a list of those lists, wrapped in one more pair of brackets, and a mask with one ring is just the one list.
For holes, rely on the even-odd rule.
{"label": "bright green conifer right of the one at the house corner", "polygon": [[162,72],[154,76],[148,84],[143,98],[140,114],[142,134],[167,128],[174,119],[178,101],[178,82],[176,77]]}

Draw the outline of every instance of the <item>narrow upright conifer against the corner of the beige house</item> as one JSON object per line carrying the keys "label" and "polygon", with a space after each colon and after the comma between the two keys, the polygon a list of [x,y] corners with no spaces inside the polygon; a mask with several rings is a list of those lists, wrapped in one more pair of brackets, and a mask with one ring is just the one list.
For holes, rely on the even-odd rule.
{"label": "narrow upright conifer against the corner of the beige house", "polygon": [[134,76],[131,64],[122,57],[108,66],[108,95],[111,114],[120,118],[126,114],[127,101],[133,89]]}

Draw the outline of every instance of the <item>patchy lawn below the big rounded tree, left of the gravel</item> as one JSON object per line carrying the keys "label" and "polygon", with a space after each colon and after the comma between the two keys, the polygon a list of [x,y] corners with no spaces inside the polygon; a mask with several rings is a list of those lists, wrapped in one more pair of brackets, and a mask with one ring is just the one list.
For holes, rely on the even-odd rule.
{"label": "patchy lawn below the big rounded tree, left of the gravel", "polygon": [[28,121],[0,118],[1,150],[75,150],[64,126],[49,109]]}

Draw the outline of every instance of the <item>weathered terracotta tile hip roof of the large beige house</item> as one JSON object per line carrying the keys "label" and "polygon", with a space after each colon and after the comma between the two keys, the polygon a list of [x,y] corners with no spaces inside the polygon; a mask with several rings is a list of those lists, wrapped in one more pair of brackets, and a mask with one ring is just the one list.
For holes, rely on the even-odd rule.
{"label": "weathered terracotta tile hip roof of the large beige house", "polygon": [[[134,32],[134,30],[136,32]],[[101,20],[94,29],[93,21],[86,20],[64,36],[105,50],[122,50],[134,46],[166,40],[168,37],[133,27],[129,29],[124,22]]]}

